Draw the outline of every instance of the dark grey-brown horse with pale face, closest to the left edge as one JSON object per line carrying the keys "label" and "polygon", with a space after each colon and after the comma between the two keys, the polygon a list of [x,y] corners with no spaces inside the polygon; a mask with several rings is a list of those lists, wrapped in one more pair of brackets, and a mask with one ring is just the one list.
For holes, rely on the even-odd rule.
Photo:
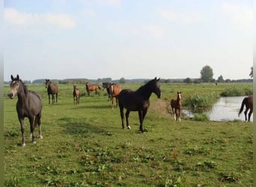
{"label": "dark grey-brown horse with pale face, closest to the left edge", "polygon": [[[13,78],[13,75],[10,76],[10,91],[8,96],[10,99],[13,99],[14,96],[18,96],[18,101],[16,102],[16,111],[19,118],[20,129],[22,132],[22,144],[21,146],[25,146],[25,138],[24,138],[24,118],[28,117],[30,123],[30,132],[32,137],[32,143],[36,143],[34,137],[34,127],[38,125],[39,127],[39,137],[43,138],[41,135],[41,111],[43,108],[42,99],[39,93],[35,91],[28,91],[28,88],[24,85],[21,79],[19,79],[19,75],[16,78]],[[35,116],[35,119],[34,119]]]}

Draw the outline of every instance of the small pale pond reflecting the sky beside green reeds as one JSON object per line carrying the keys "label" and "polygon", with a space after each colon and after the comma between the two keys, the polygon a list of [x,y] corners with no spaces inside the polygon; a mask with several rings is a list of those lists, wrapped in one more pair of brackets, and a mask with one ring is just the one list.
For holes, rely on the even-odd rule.
{"label": "small pale pond reflecting the sky beside green reeds", "polygon": [[[246,108],[244,108],[243,112],[240,114],[240,117],[238,117],[238,111],[240,110],[241,103],[245,97],[246,96],[221,97],[219,101],[210,108],[199,108],[196,111],[183,110],[183,114],[193,117],[195,113],[200,114],[204,112],[209,115],[210,120],[245,120],[245,115],[243,112],[246,110]],[[253,114],[251,116],[251,121],[253,121]]]}

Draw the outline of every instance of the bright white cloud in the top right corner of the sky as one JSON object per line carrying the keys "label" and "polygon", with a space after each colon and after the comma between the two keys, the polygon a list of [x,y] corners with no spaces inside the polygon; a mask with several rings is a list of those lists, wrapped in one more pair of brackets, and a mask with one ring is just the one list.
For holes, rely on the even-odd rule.
{"label": "bright white cloud in the top right corner of the sky", "polygon": [[239,28],[252,28],[252,8],[241,4],[222,3],[222,10],[234,25]]}

